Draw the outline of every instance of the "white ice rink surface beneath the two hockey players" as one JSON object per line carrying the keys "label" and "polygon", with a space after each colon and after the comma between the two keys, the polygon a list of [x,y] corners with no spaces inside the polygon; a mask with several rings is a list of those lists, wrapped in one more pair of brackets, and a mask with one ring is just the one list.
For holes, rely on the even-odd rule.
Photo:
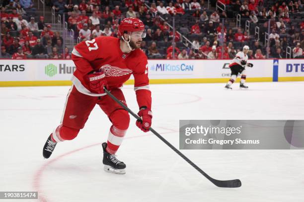
{"label": "white ice rink surface beneath the two hockey players", "polygon": [[[304,82],[248,83],[247,91],[224,85],[151,85],[152,127],[178,148],[179,119],[304,119]],[[0,191],[38,191],[42,202],[304,201],[303,150],[182,150],[212,177],[242,181],[218,188],[132,117],[117,153],[127,173],[106,173],[100,143],[111,123],[98,106],[76,139],[44,159],[69,88],[0,88]],[[137,112],[133,87],[123,92]]]}

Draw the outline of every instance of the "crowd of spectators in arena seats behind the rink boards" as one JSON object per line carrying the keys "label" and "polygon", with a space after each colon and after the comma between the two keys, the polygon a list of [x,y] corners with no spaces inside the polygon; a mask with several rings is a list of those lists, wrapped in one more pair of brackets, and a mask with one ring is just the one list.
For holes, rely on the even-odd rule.
{"label": "crowd of spectators in arena seats behind the rink boards", "polygon": [[[49,0],[48,4],[80,40],[118,37],[118,25],[124,17],[140,18],[147,30],[142,50],[149,58],[230,59],[244,45],[250,47],[250,59],[285,58],[287,47],[292,48],[292,57],[303,57],[303,1],[218,0],[225,4],[225,11],[215,10],[216,1],[210,0],[209,9],[204,0]],[[3,1],[2,57],[70,58],[60,33],[53,33],[43,16],[37,19],[26,14],[34,9],[31,0]],[[237,14],[241,16],[238,28]],[[173,17],[175,34],[166,24],[173,25]],[[244,29],[247,20],[249,32]],[[259,39],[253,34],[256,26]],[[269,44],[265,46],[265,32],[269,30]],[[190,43],[181,42],[179,33]]]}

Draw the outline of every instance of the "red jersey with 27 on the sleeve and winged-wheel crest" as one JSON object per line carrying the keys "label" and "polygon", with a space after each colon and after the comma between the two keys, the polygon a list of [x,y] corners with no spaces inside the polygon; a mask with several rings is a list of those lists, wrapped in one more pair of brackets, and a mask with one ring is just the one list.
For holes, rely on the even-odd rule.
{"label": "red jersey with 27 on the sleeve and winged-wheel crest", "polygon": [[110,91],[122,87],[133,75],[139,107],[147,106],[151,109],[148,59],[142,50],[124,53],[120,49],[119,38],[97,37],[77,44],[72,51],[72,60],[76,65],[72,82],[80,93],[95,97],[106,95],[89,91],[87,80],[84,79],[89,72],[102,70]]}

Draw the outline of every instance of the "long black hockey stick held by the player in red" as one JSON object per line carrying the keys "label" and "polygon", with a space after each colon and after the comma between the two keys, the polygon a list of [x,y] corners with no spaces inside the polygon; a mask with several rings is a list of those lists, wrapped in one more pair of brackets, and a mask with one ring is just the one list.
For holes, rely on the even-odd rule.
{"label": "long black hockey stick held by the player in red", "polygon": [[[142,121],[142,119],[134,113],[129,107],[124,105],[121,101],[119,101],[115,96],[113,96],[106,88],[104,88],[104,91],[108,96],[110,96],[114,101],[116,101],[119,105],[121,105],[124,109],[126,109],[132,116],[134,116],[137,120]],[[199,171],[202,175],[204,175],[208,180],[210,180],[213,184],[215,184],[218,187],[228,187],[228,188],[235,188],[240,187],[241,181],[236,180],[216,180],[210,177],[207,173],[205,173],[201,168],[199,168],[196,164],[194,164],[189,158],[187,158],[184,154],[179,152],[173,145],[171,145],[167,140],[165,140],[161,135],[159,135],[156,131],[154,131],[153,128],[150,127],[150,131],[156,135],[162,142],[164,142],[169,148],[171,148],[174,152],[176,152],[179,156],[181,156],[185,161],[187,161],[192,167],[194,167],[197,171]]]}

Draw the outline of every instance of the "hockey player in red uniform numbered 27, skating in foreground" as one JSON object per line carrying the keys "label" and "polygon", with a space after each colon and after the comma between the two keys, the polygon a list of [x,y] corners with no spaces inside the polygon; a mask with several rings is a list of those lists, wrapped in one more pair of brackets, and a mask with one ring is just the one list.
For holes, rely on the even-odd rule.
{"label": "hockey player in red uniform numbered 27, skating in foreground", "polygon": [[79,43],[72,51],[76,71],[68,93],[61,124],[49,136],[43,156],[49,158],[59,142],[73,140],[96,104],[112,122],[107,143],[102,144],[105,170],[125,173],[125,163],[115,157],[129,127],[128,112],[104,92],[106,87],[118,100],[126,104],[121,91],[123,83],[134,76],[134,90],[142,122],[136,125],[148,132],[152,123],[151,92],[149,90],[148,60],[140,50],[146,36],[145,25],[137,18],[125,18],[119,25],[120,38],[97,37]]}

